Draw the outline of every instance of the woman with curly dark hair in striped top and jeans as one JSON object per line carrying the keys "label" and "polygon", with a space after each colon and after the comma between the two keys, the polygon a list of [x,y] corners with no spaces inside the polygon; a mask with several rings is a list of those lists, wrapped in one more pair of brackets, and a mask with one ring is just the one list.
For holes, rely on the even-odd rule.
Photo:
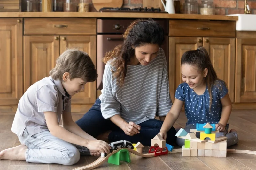
{"label": "woman with curly dark hair in striped top and jeans", "polygon": [[[76,122],[86,133],[110,142],[151,145],[172,106],[167,62],[159,48],[163,41],[163,28],[152,19],[136,20],[127,28],[124,43],[103,59],[102,94]],[[175,129],[166,133],[166,142],[174,143]]]}

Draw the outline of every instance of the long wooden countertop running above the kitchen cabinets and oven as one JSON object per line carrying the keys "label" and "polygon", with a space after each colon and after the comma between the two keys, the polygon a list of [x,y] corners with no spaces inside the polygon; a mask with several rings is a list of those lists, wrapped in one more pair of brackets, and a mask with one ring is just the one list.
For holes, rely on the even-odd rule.
{"label": "long wooden countertop running above the kitchen cabinets and oven", "polygon": [[16,17],[88,17],[88,18],[166,18],[195,20],[237,21],[237,16],[199,15],[199,14],[167,14],[167,13],[134,13],[134,12],[0,12],[0,18]]}

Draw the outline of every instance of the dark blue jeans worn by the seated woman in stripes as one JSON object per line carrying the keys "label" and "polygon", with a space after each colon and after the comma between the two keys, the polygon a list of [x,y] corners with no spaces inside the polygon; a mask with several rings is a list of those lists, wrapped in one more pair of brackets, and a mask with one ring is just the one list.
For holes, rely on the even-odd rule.
{"label": "dark blue jeans worn by the seated woman in stripes", "polygon": [[[80,126],[86,133],[94,138],[101,133],[111,130],[112,132],[108,136],[109,142],[127,140],[131,143],[140,142],[143,145],[151,146],[151,139],[153,139],[159,133],[163,125],[163,121],[150,119],[139,124],[141,126],[140,133],[133,136],[126,135],[124,131],[116,126],[112,121],[103,118],[100,111],[100,103],[100,99],[97,99],[90,110],[81,119],[76,121],[78,126]],[[176,131],[174,127],[172,127],[167,132],[167,144],[175,144],[175,134]]]}

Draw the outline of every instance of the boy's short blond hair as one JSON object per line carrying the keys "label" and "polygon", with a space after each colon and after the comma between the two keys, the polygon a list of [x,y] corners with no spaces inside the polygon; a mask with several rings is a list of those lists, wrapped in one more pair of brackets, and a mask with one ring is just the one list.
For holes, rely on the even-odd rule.
{"label": "boy's short blond hair", "polygon": [[58,58],[55,68],[50,71],[50,76],[61,80],[65,72],[70,74],[70,79],[81,78],[85,82],[93,82],[98,74],[89,55],[80,50],[68,49]]}

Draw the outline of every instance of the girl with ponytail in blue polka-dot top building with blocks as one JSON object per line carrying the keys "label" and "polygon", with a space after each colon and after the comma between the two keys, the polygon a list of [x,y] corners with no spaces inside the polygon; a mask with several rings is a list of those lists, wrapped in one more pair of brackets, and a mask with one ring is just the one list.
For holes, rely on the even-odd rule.
{"label": "girl with ponytail in blue polka-dot top building with blocks", "polygon": [[[189,133],[190,129],[196,129],[196,123],[210,122],[216,124],[216,130],[220,131],[216,133],[216,137],[227,136],[227,146],[236,144],[238,142],[237,131],[231,129],[228,133],[227,122],[232,109],[228,89],[225,83],[217,78],[204,47],[183,54],[181,73],[184,83],[181,83],[175,92],[173,106],[159,134],[164,139],[168,137],[166,132],[178,119],[184,103],[188,119],[184,128],[186,132]],[[177,144],[183,146],[184,139],[177,138]]]}

